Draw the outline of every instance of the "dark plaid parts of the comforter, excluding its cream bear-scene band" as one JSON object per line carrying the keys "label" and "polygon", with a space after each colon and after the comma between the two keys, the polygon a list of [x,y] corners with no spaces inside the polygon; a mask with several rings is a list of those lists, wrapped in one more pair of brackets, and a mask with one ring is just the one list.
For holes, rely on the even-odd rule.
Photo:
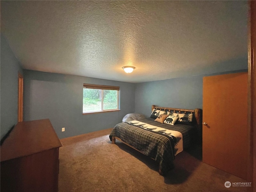
{"label": "dark plaid parts of the comforter, excluding its cream bear-scene band", "polygon": [[[184,147],[186,147],[186,142],[191,139],[191,134],[189,132],[193,129],[192,126],[182,124],[171,126],[155,122],[152,118],[143,119],[140,120],[140,122],[181,132]],[[162,174],[166,174],[174,167],[173,160],[176,153],[174,150],[176,144],[175,137],[165,136],[164,134],[156,133],[151,130],[145,130],[144,128],[131,125],[127,122],[117,124],[109,135],[111,141],[112,136],[120,138],[123,142],[126,142],[142,152],[142,154],[153,158],[159,163],[159,170]]]}

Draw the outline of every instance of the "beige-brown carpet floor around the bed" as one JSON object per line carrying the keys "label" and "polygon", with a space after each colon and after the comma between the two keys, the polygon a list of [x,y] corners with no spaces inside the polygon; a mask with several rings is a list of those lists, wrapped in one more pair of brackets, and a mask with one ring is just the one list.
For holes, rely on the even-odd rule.
{"label": "beige-brown carpet floor around the bed", "polygon": [[[163,177],[158,164],[140,152],[109,140],[111,129],[62,139],[59,192],[243,192],[226,181],[246,182],[183,151]],[[191,155],[192,154],[192,155]],[[195,153],[196,154],[196,153]]]}

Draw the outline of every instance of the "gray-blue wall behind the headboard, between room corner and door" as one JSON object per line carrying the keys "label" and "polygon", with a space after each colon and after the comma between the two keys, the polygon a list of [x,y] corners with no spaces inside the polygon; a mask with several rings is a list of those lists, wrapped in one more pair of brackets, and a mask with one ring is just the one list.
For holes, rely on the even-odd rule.
{"label": "gray-blue wall behind the headboard, between room corner and door", "polygon": [[202,108],[202,76],[136,84],[135,112],[150,116],[152,104],[160,107]]}

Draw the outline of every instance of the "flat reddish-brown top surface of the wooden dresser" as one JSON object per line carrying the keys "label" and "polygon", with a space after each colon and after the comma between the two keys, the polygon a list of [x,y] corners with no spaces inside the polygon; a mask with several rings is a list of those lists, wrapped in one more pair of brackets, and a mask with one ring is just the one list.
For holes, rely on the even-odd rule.
{"label": "flat reddish-brown top surface of the wooden dresser", "polygon": [[49,119],[18,122],[1,146],[1,162],[61,147]]}

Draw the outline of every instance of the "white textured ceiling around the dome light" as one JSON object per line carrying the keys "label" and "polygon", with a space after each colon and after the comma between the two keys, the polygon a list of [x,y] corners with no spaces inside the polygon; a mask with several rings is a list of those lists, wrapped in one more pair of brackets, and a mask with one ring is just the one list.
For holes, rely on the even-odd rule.
{"label": "white textured ceiling around the dome light", "polygon": [[25,69],[148,82],[244,68],[247,12],[246,1],[1,0],[1,34]]}

